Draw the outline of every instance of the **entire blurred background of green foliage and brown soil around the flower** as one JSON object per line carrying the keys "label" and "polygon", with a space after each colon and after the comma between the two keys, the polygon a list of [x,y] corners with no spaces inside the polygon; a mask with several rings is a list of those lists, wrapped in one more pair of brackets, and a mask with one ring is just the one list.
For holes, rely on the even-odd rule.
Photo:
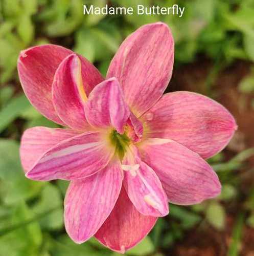
{"label": "entire blurred background of green foliage and brown soil around the flower", "polygon": [[[83,15],[83,4],[186,7],[177,16]],[[94,239],[74,244],[63,227],[67,182],[34,182],[19,162],[28,127],[57,127],[36,112],[16,71],[20,50],[53,43],[93,61],[105,75],[122,40],[162,20],[175,38],[168,91],[190,90],[225,105],[239,125],[229,146],[209,162],[223,184],[220,197],[171,205],[128,255],[254,255],[254,1],[253,0],[0,0],[0,256],[117,255]]]}

